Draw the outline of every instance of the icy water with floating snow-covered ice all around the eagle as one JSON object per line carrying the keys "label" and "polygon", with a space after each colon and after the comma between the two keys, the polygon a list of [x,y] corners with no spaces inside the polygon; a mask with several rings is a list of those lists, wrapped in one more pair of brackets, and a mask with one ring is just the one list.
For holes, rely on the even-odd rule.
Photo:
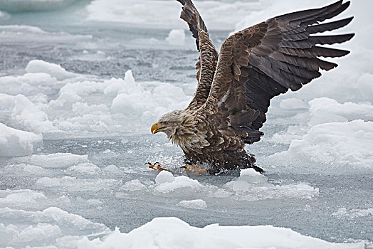
{"label": "icy water with floating snow-covered ice all around the eagle", "polygon": [[[41,2],[0,1],[0,247],[373,248],[371,3],[345,14],[357,37],[339,68],[272,101],[266,136],[247,147],[265,174],[194,176],[149,132],[196,87],[180,6]],[[217,46],[322,4],[196,2]]]}

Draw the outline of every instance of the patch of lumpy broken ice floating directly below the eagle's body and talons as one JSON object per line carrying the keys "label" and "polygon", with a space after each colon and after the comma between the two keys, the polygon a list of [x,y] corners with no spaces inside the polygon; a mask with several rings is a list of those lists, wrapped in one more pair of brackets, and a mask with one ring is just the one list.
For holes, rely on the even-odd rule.
{"label": "patch of lumpy broken ice floating directly below the eagle's body and talons", "polygon": [[[222,186],[201,184],[188,176],[174,176],[169,171],[160,171],[155,178],[155,184],[144,184],[139,179],[127,181],[120,190],[147,191],[153,189],[155,195],[166,196],[197,196],[203,198],[226,198],[231,201],[258,201],[281,198],[305,198],[318,196],[319,189],[303,182],[273,184],[266,176],[254,169],[243,169],[238,178],[228,181]],[[204,206],[201,201],[182,200],[177,206]]]}

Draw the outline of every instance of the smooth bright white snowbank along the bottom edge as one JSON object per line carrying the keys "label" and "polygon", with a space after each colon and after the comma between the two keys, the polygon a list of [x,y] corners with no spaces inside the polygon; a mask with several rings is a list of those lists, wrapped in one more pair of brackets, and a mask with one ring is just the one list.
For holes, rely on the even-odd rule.
{"label": "smooth bright white snowbank along the bottom edge", "polygon": [[[270,238],[270,239],[268,239]],[[130,233],[118,229],[102,240],[83,238],[78,248],[364,248],[363,243],[335,244],[273,226],[189,226],[178,218],[154,218]]]}

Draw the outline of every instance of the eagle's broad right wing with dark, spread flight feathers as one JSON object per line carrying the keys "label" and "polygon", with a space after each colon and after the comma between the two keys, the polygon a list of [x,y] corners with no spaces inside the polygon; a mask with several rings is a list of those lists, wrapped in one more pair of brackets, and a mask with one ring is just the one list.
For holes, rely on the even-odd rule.
{"label": "eagle's broad right wing with dark, spread flight feathers", "polygon": [[[318,57],[340,57],[350,53],[317,45],[342,43],[354,34],[312,36],[346,26],[352,18],[320,23],[345,11],[350,1],[320,9],[298,11],[270,18],[233,34],[221,46],[214,82],[199,112],[251,144],[260,140],[270,99],[291,89],[299,90],[320,77],[320,68],[337,64]],[[232,136],[232,134],[231,134]]]}

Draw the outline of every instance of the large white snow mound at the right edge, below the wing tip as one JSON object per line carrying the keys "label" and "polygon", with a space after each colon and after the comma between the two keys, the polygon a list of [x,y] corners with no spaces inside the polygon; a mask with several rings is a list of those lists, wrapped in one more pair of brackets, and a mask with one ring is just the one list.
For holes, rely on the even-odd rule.
{"label": "large white snow mound at the right edge, below the wing tip", "polygon": [[373,169],[373,122],[353,120],[311,127],[302,139],[294,139],[285,152],[270,156],[287,165],[315,165],[321,169]]}

